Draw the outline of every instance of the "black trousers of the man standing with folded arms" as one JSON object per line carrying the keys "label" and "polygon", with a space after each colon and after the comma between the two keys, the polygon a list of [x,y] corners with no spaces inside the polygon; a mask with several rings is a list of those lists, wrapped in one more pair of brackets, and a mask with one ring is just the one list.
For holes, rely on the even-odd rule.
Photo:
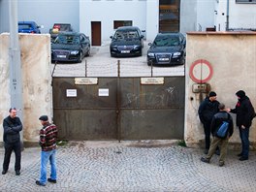
{"label": "black trousers of the man standing with folded arms", "polygon": [[21,144],[20,144],[20,142],[14,143],[14,144],[6,144],[5,143],[5,158],[4,158],[4,163],[3,163],[3,170],[5,170],[5,171],[8,171],[8,169],[9,169],[10,159],[11,159],[13,150],[15,151],[15,154],[16,154],[15,170],[20,171],[20,160],[21,160]]}

